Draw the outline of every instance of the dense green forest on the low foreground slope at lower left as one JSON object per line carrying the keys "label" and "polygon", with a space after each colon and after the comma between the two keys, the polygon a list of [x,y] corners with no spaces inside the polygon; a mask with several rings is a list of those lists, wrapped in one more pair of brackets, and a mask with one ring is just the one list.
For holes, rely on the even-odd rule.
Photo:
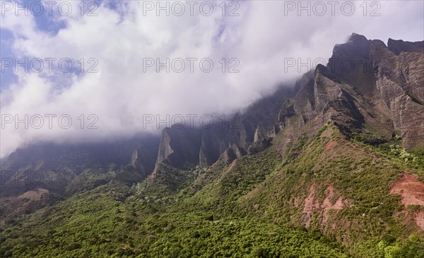
{"label": "dense green forest on the low foreground slope at lower left", "polygon": [[104,185],[8,225],[1,257],[343,257],[316,231],[148,198],[123,202],[129,191]]}

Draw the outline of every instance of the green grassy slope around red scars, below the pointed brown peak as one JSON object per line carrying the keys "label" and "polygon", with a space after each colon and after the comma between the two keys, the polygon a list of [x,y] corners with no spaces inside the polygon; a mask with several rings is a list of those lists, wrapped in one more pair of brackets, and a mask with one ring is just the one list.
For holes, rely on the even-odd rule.
{"label": "green grassy slope around red scars, below the pointed brown peak", "polygon": [[[326,149],[332,141],[336,145]],[[326,223],[322,223],[322,211],[314,212],[311,228],[343,242],[355,257],[384,257],[390,253],[395,257],[406,253],[408,257],[409,249],[416,252],[414,255],[424,255],[423,232],[404,220],[400,197],[388,194],[405,171],[423,178],[422,164],[406,163],[386,152],[385,147],[352,144],[331,125],[300,148],[299,156],[286,159],[281,169],[240,198],[245,214],[300,226],[303,207],[302,203],[296,206],[295,199],[305,199],[310,185],[315,183],[316,197],[322,203],[331,184],[336,190],[332,202],[343,196],[351,201],[351,206],[330,211]],[[411,241],[405,241],[408,238]]]}

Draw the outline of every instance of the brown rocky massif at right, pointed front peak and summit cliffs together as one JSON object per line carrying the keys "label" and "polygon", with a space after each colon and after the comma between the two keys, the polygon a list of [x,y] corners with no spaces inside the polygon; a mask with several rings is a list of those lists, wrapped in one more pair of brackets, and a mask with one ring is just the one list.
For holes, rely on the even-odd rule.
{"label": "brown rocky massif at right, pointed front peak and summit cliffs together", "polygon": [[282,106],[280,124],[297,126],[299,135],[329,119],[347,133],[367,123],[382,135],[400,131],[407,149],[423,148],[423,42],[389,42],[391,49],[353,34],[336,45],[328,67],[319,65],[313,78],[307,74],[298,82],[298,93]]}

